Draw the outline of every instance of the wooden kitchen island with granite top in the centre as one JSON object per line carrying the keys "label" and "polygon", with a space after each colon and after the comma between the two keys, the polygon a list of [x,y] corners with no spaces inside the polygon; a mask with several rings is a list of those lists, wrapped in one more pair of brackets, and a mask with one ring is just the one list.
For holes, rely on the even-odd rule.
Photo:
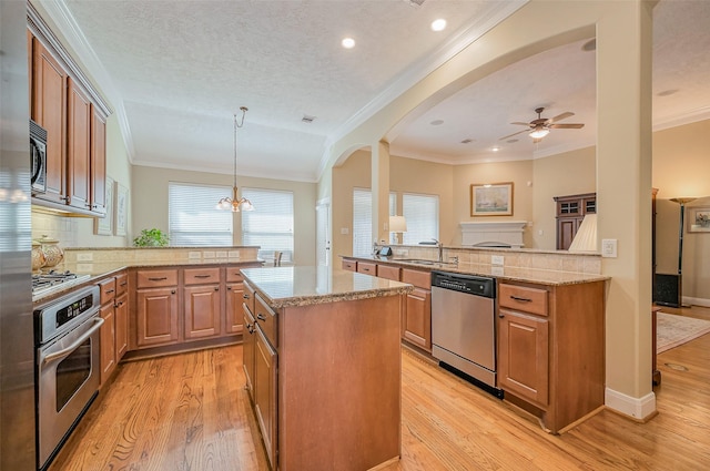
{"label": "wooden kitchen island with granite top in the centre", "polygon": [[242,274],[244,369],[272,469],[397,460],[399,321],[413,287],[332,267]]}

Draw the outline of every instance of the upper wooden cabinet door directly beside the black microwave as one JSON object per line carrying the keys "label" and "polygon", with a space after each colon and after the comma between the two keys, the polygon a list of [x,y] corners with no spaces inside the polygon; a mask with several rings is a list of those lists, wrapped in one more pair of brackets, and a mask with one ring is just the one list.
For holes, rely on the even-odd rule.
{"label": "upper wooden cabinet door directly beside the black microwave", "polygon": [[64,204],[67,71],[37,38],[32,53],[32,119],[47,130],[47,192],[37,197]]}

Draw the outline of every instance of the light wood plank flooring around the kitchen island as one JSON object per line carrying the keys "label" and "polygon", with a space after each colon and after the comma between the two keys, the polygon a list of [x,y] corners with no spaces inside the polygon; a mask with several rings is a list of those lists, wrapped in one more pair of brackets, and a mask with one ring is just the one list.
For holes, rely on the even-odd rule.
{"label": "light wood plank flooring around the kitchen island", "polygon": [[[707,308],[663,310],[710,319]],[[561,436],[402,356],[402,460],[387,471],[710,469],[710,335],[659,356],[648,423],[604,410]],[[121,365],[50,470],[267,470],[241,362],[232,346]]]}

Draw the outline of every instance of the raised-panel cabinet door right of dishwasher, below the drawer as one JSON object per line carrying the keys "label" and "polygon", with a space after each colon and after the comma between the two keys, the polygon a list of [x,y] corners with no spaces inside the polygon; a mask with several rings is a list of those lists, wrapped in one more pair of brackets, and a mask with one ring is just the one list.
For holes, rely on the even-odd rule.
{"label": "raised-panel cabinet door right of dishwasher, below the drawer", "polygon": [[546,407],[549,377],[549,321],[513,310],[498,315],[498,385]]}

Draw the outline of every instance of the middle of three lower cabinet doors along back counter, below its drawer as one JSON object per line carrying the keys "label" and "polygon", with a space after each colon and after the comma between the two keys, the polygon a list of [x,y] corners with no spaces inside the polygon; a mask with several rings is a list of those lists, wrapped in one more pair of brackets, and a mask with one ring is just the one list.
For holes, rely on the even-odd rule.
{"label": "middle of three lower cabinet doors along back counter, below its drawer", "polygon": [[183,288],[185,339],[220,335],[220,285]]}

